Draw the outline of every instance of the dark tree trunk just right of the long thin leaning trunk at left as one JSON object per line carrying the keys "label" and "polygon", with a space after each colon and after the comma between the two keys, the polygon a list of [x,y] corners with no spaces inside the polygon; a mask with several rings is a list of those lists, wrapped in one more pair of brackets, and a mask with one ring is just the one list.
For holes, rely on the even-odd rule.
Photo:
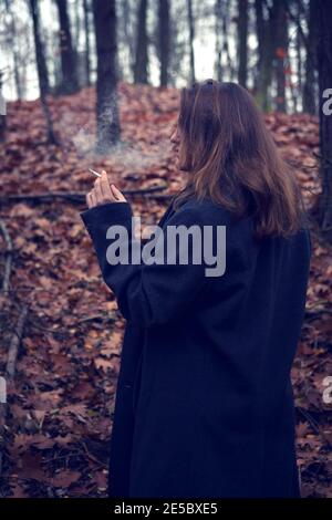
{"label": "dark tree trunk just right of the long thin leaning trunk at left", "polygon": [[56,6],[60,21],[60,55],[62,70],[60,92],[62,94],[73,94],[79,91],[79,81],[66,0],[56,0]]}

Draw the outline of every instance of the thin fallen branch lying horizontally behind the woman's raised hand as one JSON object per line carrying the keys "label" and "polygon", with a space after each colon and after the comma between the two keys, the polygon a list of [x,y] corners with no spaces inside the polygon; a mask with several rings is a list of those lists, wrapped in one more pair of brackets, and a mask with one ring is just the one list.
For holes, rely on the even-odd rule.
{"label": "thin fallen branch lying horizontally behind the woman's raised hand", "polygon": [[[123,189],[123,195],[151,195],[157,191],[164,191],[166,186],[152,186],[151,188],[142,189]],[[18,201],[33,201],[33,202],[43,202],[44,200],[60,198],[64,200],[71,200],[72,202],[85,202],[86,193],[82,191],[50,191],[46,194],[18,194],[18,195],[7,195],[0,197],[0,204],[10,204]]]}

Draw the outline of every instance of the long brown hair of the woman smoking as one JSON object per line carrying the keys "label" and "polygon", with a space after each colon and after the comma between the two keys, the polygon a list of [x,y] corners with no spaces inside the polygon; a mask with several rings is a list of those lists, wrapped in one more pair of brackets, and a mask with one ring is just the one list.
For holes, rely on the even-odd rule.
{"label": "long brown hair of the woman smoking", "polygon": [[257,238],[301,227],[301,189],[246,89],[214,80],[181,89],[177,125],[179,160],[189,175],[175,208],[196,196],[239,217],[253,211]]}

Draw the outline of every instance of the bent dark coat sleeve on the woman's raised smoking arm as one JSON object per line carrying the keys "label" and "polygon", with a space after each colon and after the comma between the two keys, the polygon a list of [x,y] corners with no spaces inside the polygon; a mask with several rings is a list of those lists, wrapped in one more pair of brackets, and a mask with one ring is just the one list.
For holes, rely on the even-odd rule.
{"label": "bent dark coat sleeve on the woman's raised smoking arm", "polygon": [[[110,240],[106,239],[106,232],[110,226],[121,225],[126,228],[129,252],[134,246],[137,246],[138,240],[132,235],[132,217],[128,202],[107,202],[81,214],[93,240],[103,279],[115,293],[118,309],[124,318],[143,326],[165,324],[178,319],[181,312],[188,312],[189,306],[195,304],[197,294],[206,283],[204,254],[201,252],[203,261],[195,263],[193,261],[193,243],[189,240],[187,264],[179,262],[180,245],[176,251],[173,251],[176,257],[176,261],[173,263],[147,264],[144,261],[137,264],[108,263],[106,250]],[[196,225],[201,229],[204,225],[201,209],[189,205],[176,211],[167,220],[163,229],[164,232],[158,236],[156,250],[160,247],[159,251],[164,251],[166,254],[166,228],[181,225],[186,228]],[[126,247],[125,243],[123,246]]]}

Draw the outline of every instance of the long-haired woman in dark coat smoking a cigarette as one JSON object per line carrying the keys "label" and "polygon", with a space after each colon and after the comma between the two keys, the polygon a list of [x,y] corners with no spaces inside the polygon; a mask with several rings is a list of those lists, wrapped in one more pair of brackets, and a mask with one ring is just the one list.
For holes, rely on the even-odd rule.
{"label": "long-haired woman in dark coat smoking a cigarette", "polygon": [[110,495],[298,497],[290,370],[311,252],[300,190],[235,83],[183,89],[170,141],[187,180],[159,226],[226,227],[226,270],[179,263],[180,247],[176,263],[110,264],[110,226],[136,243],[131,206],[105,173],[87,194],[82,219],[127,320]]}

